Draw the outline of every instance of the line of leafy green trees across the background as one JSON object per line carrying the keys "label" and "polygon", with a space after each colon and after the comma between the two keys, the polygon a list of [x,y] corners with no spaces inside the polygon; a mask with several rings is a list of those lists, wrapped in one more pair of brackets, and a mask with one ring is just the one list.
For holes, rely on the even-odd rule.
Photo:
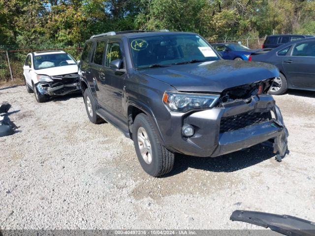
{"label": "line of leafy green trees across the background", "polygon": [[192,31],[208,40],[315,34],[314,0],[0,0],[0,47],[82,45],[121,30]]}

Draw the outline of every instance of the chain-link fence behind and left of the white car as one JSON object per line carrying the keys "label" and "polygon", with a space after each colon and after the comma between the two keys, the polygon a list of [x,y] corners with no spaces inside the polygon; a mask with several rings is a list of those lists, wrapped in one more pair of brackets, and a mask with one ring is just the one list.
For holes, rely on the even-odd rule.
{"label": "chain-link fence behind and left of the white car", "polygon": [[48,48],[48,49],[21,49],[0,51],[0,85],[7,83],[24,83],[23,65],[29,53],[37,51],[63,50],[74,59],[79,60],[82,47]]}

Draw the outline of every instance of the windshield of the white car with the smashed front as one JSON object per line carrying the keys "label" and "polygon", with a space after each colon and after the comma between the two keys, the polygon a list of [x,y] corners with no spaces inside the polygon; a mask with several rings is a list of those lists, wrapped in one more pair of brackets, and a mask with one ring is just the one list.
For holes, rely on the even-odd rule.
{"label": "windshield of the white car with the smashed front", "polygon": [[33,57],[33,61],[35,70],[76,64],[76,61],[67,53],[38,55]]}

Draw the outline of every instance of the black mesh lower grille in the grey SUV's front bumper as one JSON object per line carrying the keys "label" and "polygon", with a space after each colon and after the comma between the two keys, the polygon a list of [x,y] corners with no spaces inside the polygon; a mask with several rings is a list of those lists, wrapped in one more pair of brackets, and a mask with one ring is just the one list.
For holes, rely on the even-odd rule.
{"label": "black mesh lower grille in the grey SUV's front bumper", "polygon": [[222,117],[220,133],[242,129],[250,125],[259,124],[269,120],[270,113],[242,113],[231,117]]}

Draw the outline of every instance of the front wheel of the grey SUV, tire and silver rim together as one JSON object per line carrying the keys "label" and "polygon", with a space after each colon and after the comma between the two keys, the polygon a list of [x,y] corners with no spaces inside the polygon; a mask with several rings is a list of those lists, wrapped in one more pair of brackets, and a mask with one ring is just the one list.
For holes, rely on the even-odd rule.
{"label": "front wheel of the grey SUV, tire and silver rim together", "polygon": [[143,113],[134,119],[132,139],[140,165],[150,176],[162,176],[173,169],[174,153],[160,144],[151,120]]}

